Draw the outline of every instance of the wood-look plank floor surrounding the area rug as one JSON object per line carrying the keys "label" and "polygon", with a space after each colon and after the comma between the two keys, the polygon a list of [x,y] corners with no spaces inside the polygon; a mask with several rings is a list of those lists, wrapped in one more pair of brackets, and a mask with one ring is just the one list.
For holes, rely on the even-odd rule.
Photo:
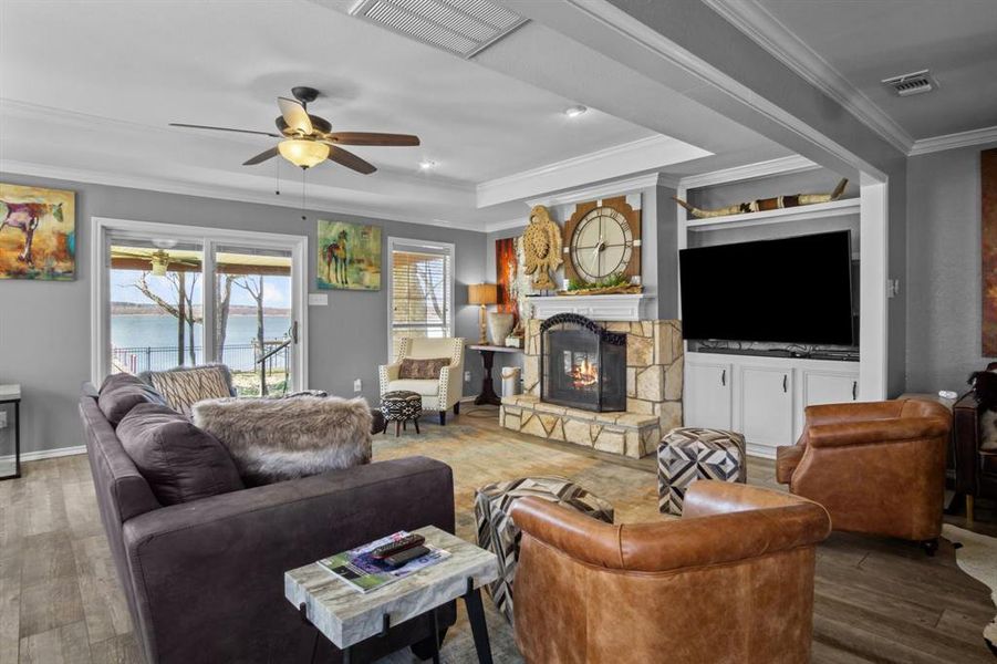
{"label": "wood-look plank floor surrounding the area rug", "polygon": [[[480,414],[453,424],[578,450],[502,432]],[[629,465],[653,473],[646,459]],[[770,461],[749,469],[752,484],[775,485]],[[997,533],[980,507],[974,528]],[[139,663],[117,583],[84,456],[24,464],[23,478],[0,481],[0,664]],[[994,613],[989,590],[956,567],[948,542],[930,559],[906,542],[834,533],[819,549],[813,662],[994,663],[982,637]]]}

